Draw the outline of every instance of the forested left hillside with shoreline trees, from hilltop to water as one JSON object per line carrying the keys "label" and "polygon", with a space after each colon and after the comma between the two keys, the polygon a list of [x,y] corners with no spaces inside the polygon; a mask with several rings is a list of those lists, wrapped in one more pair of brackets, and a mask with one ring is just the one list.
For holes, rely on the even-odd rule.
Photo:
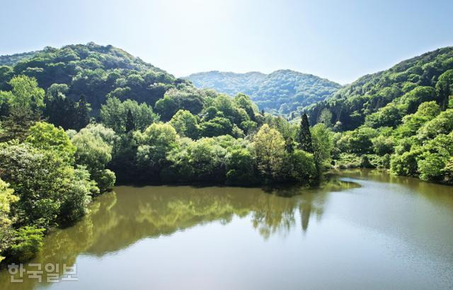
{"label": "forested left hillside with shoreline trees, from hilltop to water", "polygon": [[260,112],[247,95],[190,81],[112,46],[46,47],[0,66],[0,261],[113,185],[317,185],[333,133]]}

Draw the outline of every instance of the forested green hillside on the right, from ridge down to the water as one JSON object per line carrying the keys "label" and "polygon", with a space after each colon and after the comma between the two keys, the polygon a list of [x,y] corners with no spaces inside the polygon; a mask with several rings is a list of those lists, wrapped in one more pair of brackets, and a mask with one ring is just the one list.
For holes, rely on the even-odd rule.
{"label": "forested green hillside on the right, from ridge down to the water", "polygon": [[337,132],[339,168],[453,184],[453,47],[363,76],[305,112]]}

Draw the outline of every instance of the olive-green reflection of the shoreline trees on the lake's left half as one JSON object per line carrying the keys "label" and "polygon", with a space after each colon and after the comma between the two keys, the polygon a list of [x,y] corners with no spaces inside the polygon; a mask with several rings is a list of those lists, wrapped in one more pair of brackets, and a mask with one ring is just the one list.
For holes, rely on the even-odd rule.
{"label": "olive-green reflection of the shoreline trees on the lake's left half", "polygon": [[[253,228],[265,239],[289,233],[297,226],[297,214],[306,231],[313,214],[321,219],[328,192],[350,186],[333,180],[321,189],[289,187],[268,193],[239,187],[117,187],[116,192],[93,202],[78,224],[47,236],[32,262],[74,265],[81,254],[103,256],[144,238],[168,236],[213,221],[228,224],[234,216],[251,219]],[[25,277],[23,283],[13,286],[32,289],[34,284],[35,280]],[[0,289],[11,287],[8,272],[1,272]]]}

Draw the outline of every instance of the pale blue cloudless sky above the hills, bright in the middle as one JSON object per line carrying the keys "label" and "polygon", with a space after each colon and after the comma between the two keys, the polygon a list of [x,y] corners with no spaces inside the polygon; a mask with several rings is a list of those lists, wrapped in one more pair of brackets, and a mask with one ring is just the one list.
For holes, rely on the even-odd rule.
{"label": "pale blue cloudless sky above the hills, bright in the middle", "polygon": [[294,69],[340,83],[453,45],[452,0],[4,0],[0,54],[114,45],[176,76]]}

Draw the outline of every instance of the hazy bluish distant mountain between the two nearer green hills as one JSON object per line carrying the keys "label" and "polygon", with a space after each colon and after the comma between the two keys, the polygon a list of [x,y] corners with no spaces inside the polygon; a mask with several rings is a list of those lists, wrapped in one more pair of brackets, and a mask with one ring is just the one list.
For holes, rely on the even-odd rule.
{"label": "hazy bluish distant mountain between the two nearer green hills", "polygon": [[[340,84],[321,79],[312,74],[302,74],[289,69],[271,74],[248,72],[208,71],[185,77],[197,88],[213,88],[221,93],[250,95],[260,109],[287,115],[333,95]],[[289,116],[292,117],[292,116]]]}

